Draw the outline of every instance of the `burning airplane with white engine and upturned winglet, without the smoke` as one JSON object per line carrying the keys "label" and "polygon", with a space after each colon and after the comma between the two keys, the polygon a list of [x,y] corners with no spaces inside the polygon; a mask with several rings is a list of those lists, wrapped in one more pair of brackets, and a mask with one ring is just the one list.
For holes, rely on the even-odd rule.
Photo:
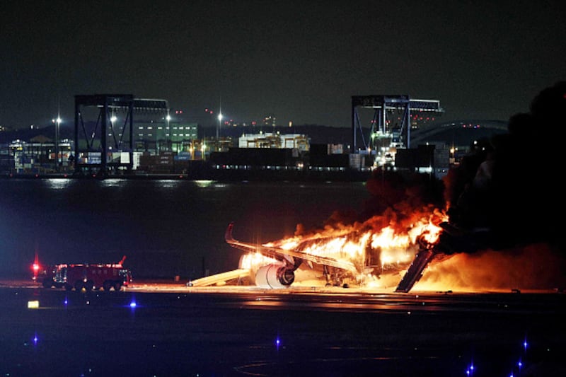
{"label": "burning airplane with white engine and upturned winglet, without the smoke", "polygon": [[[391,220],[391,219],[390,219]],[[226,229],[226,242],[246,251],[241,269],[249,269],[253,282],[262,288],[284,288],[293,284],[295,272],[303,263],[318,267],[327,285],[371,285],[382,274],[395,274],[412,263],[398,291],[409,291],[422,269],[434,257],[432,245],[437,242],[446,220],[441,211],[424,211],[412,216],[406,224],[375,229],[383,218],[371,218],[364,223],[340,228],[325,228],[309,236],[294,236],[263,245],[244,243],[232,236],[233,224]],[[403,223],[405,223],[403,221]],[[426,251],[426,258],[423,252]],[[316,265],[316,267],[315,267]],[[413,267],[415,266],[415,267]],[[406,283],[408,282],[408,283]]]}

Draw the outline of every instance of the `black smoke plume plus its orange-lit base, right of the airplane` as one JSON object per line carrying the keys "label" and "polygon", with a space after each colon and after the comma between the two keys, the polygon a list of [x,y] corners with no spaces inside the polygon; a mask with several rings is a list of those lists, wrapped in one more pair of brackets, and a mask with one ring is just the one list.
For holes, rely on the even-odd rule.
{"label": "black smoke plume plus its orange-lit base, right of the airplane", "polygon": [[[456,253],[428,267],[420,288],[562,289],[566,255],[560,136],[566,81],[509,118],[509,132],[480,140],[444,178],[447,226],[437,248]],[[473,253],[473,254],[469,254]]]}

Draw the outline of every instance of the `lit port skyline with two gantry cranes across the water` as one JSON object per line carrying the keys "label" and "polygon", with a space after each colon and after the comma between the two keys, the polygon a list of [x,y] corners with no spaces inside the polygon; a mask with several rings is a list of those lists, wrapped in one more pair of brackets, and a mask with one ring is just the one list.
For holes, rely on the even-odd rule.
{"label": "lit port skyline with two gantry cranes across the water", "polygon": [[[185,122],[179,114],[171,117],[167,101],[155,98],[76,95],[75,108],[73,138],[60,137],[57,118],[55,139],[44,135],[0,145],[0,172],[233,179],[280,172],[280,178],[300,179],[361,173],[356,174],[359,178],[383,167],[440,178],[473,140],[507,129],[507,124],[495,121],[430,122],[444,112],[439,101],[408,95],[352,96],[352,139],[347,146],[313,144],[308,134],[277,131],[275,115],[264,120],[273,132],[221,136],[217,128],[216,137],[204,137],[204,132],[199,137],[197,123]],[[369,127],[362,127],[364,109],[373,112]]]}

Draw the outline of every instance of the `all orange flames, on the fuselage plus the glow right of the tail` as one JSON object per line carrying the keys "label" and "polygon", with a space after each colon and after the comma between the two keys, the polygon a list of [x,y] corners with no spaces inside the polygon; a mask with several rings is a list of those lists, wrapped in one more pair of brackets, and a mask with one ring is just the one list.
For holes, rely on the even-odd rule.
{"label": "all orange flames, on the fuselage plus the glow right of the tail", "polygon": [[[354,277],[357,282],[370,289],[391,289],[398,285],[414,259],[420,240],[429,245],[437,243],[442,231],[438,224],[447,220],[444,212],[436,210],[415,212],[412,218],[409,222],[399,219],[384,222],[382,217],[374,217],[351,226],[325,226],[316,233],[265,245],[351,261],[359,271]],[[381,226],[383,224],[385,226]],[[272,263],[280,262],[260,253],[250,253],[241,257],[240,268],[253,269]],[[548,245],[531,245],[507,252],[461,253],[433,260],[414,289],[509,291],[563,287],[566,277],[561,268],[565,264],[560,250]],[[509,271],[502,273],[502,266]]]}

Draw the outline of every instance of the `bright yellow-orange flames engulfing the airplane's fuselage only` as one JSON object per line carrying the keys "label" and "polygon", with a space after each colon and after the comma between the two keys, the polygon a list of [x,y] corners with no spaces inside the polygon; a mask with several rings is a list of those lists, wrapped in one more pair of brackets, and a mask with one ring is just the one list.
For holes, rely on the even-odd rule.
{"label": "bright yellow-orange flames engulfing the airplane's fuselage only", "polygon": [[[368,283],[383,272],[399,273],[408,267],[419,249],[419,240],[437,243],[442,231],[438,224],[447,219],[444,211],[425,207],[404,218],[392,212],[350,226],[327,225],[322,230],[272,241],[264,246],[352,262],[359,271],[356,279]],[[277,261],[255,253],[247,255],[241,265],[246,263],[248,267],[242,268],[250,268],[272,262]],[[368,269],[372,272],[367,273]]]}

